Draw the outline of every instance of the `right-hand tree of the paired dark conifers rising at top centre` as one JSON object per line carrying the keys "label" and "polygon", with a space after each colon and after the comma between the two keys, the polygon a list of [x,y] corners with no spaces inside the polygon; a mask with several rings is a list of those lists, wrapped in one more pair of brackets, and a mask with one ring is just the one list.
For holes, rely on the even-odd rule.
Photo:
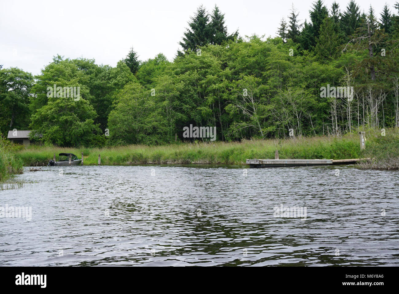
{"label": "right-hand tree of the paired dark conifers rising at top centre", "polygon": [[227,34],[227,27],[225,26],[224,14],[215,5],[211,15],[211,22],[208,24],[210,28],[209,43],[212,45],[220,45],[227,40],[234,40],[238,36],[238,30],[233,34]]}

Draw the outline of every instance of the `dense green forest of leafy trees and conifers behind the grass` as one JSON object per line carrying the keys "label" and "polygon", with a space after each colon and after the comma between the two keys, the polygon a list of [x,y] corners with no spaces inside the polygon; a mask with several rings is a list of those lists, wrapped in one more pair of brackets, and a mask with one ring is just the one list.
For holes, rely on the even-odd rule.
{"label": "dense green forest of leafy trees and conifers behind the grass", "polygon": [[[0,131],[102,147],[194,140],[183,138],[190,124],[216,126],[222,141],[399,127],[399,3],[362,11],[317,0],[302,23],[292,6],[265,38],[229,34],[217,6],[200,6],[172,62],[132,48],[116,67],[57,55],[38,76],[2,68]],[[49,97],[53,85],[79,87],[79,99]]]}

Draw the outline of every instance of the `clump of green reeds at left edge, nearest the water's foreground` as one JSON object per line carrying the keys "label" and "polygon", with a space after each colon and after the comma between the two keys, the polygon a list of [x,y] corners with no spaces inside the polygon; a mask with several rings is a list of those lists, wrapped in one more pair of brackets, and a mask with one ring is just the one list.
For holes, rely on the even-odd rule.
{"label": "clump of green reeds at left edge, nearest the water's foreground", "polygon": [[22,160],[16,156],[15,150],[10,141],[0,136],[0,182],[8,180],[13,174],[22,173]]}

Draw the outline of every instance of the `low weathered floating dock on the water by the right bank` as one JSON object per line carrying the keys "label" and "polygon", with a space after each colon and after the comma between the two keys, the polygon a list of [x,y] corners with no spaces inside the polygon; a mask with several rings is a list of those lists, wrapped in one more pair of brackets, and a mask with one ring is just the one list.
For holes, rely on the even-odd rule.
{"label": "low weathered floating dock on the water by the right bank", "polygon": [[355,164],[359,160],[361,159],[247,159],[247,164],[249,164],[250,168],[277,168],[284,166]]}

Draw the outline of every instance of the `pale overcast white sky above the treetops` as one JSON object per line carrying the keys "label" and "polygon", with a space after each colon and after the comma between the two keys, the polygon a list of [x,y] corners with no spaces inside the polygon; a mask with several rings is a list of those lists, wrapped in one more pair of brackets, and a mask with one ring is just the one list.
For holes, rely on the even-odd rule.
{"label": "pale overcast white sky above the treetops", "polygon": [[[399,0],[387,0],[393,4]],[[147,1],[41,1],[0,0],[0,64],[32,74],[60,54],[94,58],[97,64],[116,66],[131,46],[140,60],[162,52],[169,60],[180,49],[190,16],[202,3],[209,12],[217,4],[225,14],[229,33],[275,36],[280,19],[287,19],[292,2],[299,19],[310,20],[314,0],[147,0]],[[331,9],[333,0],[324,0]],[[337,0],[343,12],[349,0]],[[385,2],[356,0],[361,11],[372,4],[376,15]]]}

